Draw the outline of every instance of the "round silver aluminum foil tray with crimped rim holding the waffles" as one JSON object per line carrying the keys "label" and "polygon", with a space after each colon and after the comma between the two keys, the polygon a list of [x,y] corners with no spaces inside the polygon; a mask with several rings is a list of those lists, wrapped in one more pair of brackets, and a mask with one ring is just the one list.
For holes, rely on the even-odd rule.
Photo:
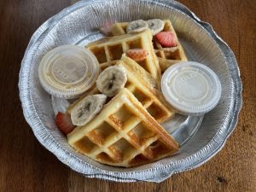
{"label": "round silver aluminum foil tray with crimped rim holding the waffles", "polygon": [[[218,74],[222,95],[218,106],[204,117],[177,116],[166,129],[182,145],[179,152],[157,162],[133,168],[102,165],[67,144],[55,126],[54,109],[65,101],[53,100],[39,84],[38,64],[50,49],[62,44],[84,45],[101,37],[98,28],[114,21],[170,19],[189,61],[198,61]],[[24,116],[38,141],[86,177],[119,182],[161,182],[177,172],[201,166],[224,146],[241,109],[241,79],[236,58],[224,41],[181,3],[167,0],[81,1],[50,18],[33,34],[20,69],[20,101]],[[67,103],[66,103],[67,104]],[[168,129],[175,126],[175,130]]]}

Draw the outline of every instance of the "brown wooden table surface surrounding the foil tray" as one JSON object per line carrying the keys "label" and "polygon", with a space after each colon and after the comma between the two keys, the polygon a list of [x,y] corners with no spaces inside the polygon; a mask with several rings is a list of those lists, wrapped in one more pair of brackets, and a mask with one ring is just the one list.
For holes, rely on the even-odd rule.
{"label": "brown wooden table surface surrounding the foil tray", "polygon": [[0,191],[256,191],[256,2],[181,0],[212,24],[236,55],[243,83],[239,122],[205,165],[163,183],[114,183],[73,172],[42,147],[20,107],[20,61],[32,33],[71,0],[0,1]]}

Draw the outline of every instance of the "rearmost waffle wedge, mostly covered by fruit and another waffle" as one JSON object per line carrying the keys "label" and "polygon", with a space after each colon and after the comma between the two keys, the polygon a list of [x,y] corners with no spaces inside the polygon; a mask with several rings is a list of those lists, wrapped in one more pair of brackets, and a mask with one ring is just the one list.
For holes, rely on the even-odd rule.
{"label": "rearmost waffle wedge, mostly covered by fruit and another waffle", "polygon": [[[170,20],[164,20],[165,26],[163,32],[173,32],[177,38],[177,34],[172,26]],[[113,36],[124,35],[126,33],[126,27],[128,23],[116,23],[112,27]],[[177,42],[177,47],[163,48],[160,43],[153,38],[154,51],[158,56],[161,72],[165,72],[168,67],[179,61],[188,61],[187,56],[184,53],[183,46]]]}

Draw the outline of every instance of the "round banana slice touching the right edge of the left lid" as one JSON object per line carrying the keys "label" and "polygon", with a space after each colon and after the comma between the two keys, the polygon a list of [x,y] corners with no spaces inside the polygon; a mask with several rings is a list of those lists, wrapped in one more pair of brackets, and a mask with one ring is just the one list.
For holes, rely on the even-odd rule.
{"label": "round banana slice touching the right edge of the left lid", "polygon": [[96,80],[96,86],[106,96],[115,96],[120,89],[125,87],[126,81],[125,68],[112,66],[102,71]]}

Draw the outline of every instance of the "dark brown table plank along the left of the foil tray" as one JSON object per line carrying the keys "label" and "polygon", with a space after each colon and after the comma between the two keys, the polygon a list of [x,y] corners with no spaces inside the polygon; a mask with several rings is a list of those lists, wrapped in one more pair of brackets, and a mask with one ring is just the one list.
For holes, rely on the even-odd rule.
{"label": "dark brown table plank along the left of the foil tray", "polygon": [[67,191],[67,166],[38,143],[26,124],[18,78],[32,33],[68,4],[62,0],[0,3],[0,191]]}

